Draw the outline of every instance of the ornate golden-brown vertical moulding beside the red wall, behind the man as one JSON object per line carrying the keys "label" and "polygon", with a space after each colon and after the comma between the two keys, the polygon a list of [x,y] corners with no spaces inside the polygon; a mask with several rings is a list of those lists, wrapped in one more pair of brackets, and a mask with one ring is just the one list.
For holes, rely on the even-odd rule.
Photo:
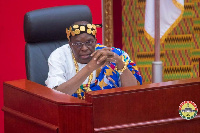
{"label": "ornate golden-brown vertical moulding beside the red wall, behind the man", "polygon": [[103,44],[112,47],[113,39],[113,0],[102,0]]}

